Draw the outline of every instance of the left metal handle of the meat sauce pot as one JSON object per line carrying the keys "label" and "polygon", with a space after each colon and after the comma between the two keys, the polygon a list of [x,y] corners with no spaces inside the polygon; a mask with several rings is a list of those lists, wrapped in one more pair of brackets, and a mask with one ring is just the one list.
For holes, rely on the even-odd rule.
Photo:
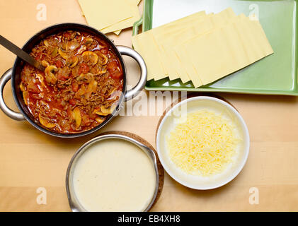
{"label": "left metal handle of the meat sauce pot", "polygon": [[7,107],[6,103],[4,102],[4,97],[3,97],[4,86],[11,79],[12,71],[13,71],[12,69],[9,69],[0,78],[0,108],[4,112],[4,114],[6,114],[8,117],[11,117],[11,119],[23,121],[25,120],[25,117],[23,117],[23,114],[14,112],[12,109]]}

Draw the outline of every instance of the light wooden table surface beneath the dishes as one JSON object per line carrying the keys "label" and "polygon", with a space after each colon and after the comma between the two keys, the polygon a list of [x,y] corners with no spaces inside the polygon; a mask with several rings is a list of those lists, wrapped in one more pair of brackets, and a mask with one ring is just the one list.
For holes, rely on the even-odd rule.
{"label": "light wooden table surface beneath the dishes", "polygon": [[[35,32],[62,22],[86,23],[76,0],[44,0],[46,20],[38,20],[37,0],[0,2],[0,34],[23,46]],[[142,3],[140,5],[142,10]],[[100,11],[100,10],[99,10]],[[116,44],[131,46],[132,29]],[[0,47],[0,74],[10,69],[15,56]],[[137,64],[125,57],[129,83],[138,78]],[[11,85],[4,89],[7,104],[17,110]],[[243,171],[232,182],[211,191],[195,191],[165,175],[164,190],[153,211],[297,211],[298,210],[298,99],[287,96],[221,94],[243,116],[251,135],[251,149]],[[143,91],[142,101],[149,100]],[[141,100],[138,97],[132,105]],[[165,107],[165,106],[164,106]],[[28,122],[14,121],[0,111],[0,210],[69,211],[65,174],[71,156],[86,141],[103,131],[129,131],[155,147],[156,116],[119,116],[91,136],[63,139],[48,136]],[[45,203],[38,202],[44,188]],[[256,197],[258,194],[258,197]],[[258,198],[258,203],[251,200]]]}

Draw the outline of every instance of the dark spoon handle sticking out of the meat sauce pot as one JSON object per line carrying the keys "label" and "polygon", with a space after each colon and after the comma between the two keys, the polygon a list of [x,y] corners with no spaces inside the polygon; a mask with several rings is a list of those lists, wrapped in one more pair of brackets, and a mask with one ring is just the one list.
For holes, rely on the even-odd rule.
{"label": "dark spoon handle sticking out of the meat sauce pot", "polygon": [[23,51],[23,49],[20,49],[19,47],[17,47],[16,44],[13,44],[11,41],[6,40],[6,38],[1,35],[0,35],[0,44],[6,47],[6,49],[11,51],[13,54],[16,54],[18,57],[26,61],[28,64],[34,66],[40,71],[45,71],[45,67],[42,66],[40,62],[38,62],[33,57],[31,57],[28,53]]}

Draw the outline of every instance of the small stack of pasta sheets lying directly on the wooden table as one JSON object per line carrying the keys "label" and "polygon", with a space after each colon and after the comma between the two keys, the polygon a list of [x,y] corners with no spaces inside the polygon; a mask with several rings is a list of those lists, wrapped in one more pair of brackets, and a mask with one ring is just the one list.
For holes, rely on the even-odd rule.
{"label": "small stack of pasta sheets lying directly on the wooden table", "polygon": [[88,25],[119,35],[139,20],[140,0],[78,0]]}

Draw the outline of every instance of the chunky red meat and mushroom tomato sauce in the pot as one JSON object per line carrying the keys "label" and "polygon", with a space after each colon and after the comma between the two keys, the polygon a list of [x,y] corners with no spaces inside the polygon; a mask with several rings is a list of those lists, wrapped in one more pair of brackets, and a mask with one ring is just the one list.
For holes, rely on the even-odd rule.
{"label": "chunky red meat and mushroom tomato sauce in the pot", "polygon": [[30,55],[45,66],[25,64],[20,89],[35,121],[58,133],[100,125],[117,107],[123,88],[120,60],[109,44],[84,32],[51,35]]}

